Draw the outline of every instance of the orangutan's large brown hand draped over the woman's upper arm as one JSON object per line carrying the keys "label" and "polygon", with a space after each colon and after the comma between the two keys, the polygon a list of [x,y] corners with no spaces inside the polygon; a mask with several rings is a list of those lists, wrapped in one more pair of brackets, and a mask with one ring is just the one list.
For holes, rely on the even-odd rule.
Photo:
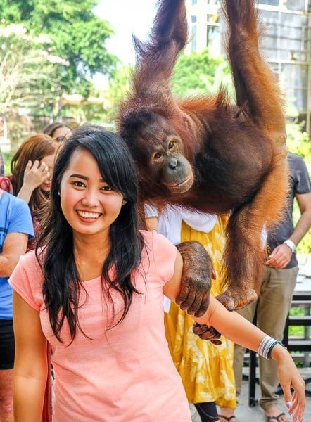
{"label": "orangutan's large brown hand draped over the woman's upper arm", "polygon": [[176,300],[189,315],[202,316],[208,309],[212,261],[201,243],[177,245],[184,267],[179,296]]}

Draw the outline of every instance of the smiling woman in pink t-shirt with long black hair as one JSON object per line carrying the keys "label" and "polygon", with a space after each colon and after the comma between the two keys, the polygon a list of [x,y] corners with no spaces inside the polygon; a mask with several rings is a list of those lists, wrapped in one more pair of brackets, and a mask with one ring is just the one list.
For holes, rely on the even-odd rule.
{"label": "smiling woman in pink t-shirt with long black hair", "polygon": [[[44,246],[24,255],[10,278],[15,422],[41,421],[48,342],[54,422],[191,422],[163,324],[163,293],[179,295],[182,256],[165,237],[139,230],[137,196],[134,161],[120,136],[80,127],[63,143]],[[252,350],[265,339],[212,297],[196,321],[221,326]],[[291,385],[291,410],[300,417],[303,381],[284,347],[274,346],[286,398]]]}

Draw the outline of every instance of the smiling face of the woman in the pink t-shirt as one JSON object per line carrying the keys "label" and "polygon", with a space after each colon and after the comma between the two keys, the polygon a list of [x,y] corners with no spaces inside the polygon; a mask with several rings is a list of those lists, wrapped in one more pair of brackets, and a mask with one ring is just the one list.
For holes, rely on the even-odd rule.
{"label": "smiling face of the woman in the pink t-shirt", "polygon": [[122,194],[101,177],[91,153],[76,150],[61,180],[61,208],[74,235],[109,234],[122,200]]}

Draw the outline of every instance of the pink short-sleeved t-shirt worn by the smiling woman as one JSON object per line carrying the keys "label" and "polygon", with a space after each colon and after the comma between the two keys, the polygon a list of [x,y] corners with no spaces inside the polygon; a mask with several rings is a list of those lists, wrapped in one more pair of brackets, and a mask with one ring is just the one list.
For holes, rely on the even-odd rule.
{"label": "pink short-sleeved t-shirt worn by the smiling woman", "polygon": [[[52,346],[56,373],[53,421],[191,422],[181,378],[167,347],[163,324],[163,286],[174,271],[177,250],[155,231],[142,231],[146,246],[133,275],[136,288],[129,313],[112,324],[112,307],[103,299],[101,277],[80,292],[82,330],[68,345],[64,324],[60,343],[49,324],[42,298],[42,272],[34,251],[20,258],[11,286],[38,312]],[[111,291],[118,321],[123,302]],[[31,329],[31,328],[30,328]],[[35,364],[35,362],[34,362]]]}

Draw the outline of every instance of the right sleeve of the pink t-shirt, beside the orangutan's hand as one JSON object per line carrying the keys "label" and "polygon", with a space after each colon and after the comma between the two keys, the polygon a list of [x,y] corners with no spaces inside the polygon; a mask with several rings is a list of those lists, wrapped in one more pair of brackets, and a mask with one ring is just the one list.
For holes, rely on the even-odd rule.
{"label": "right sleeve of the pink t-shirt, beside the orangutan's hand", "polygon": [[158,234],[156,231],[152,231],[151,234],[153,236],[153,262],[155,269],[163,283],[166,283],[174,274],[177,248],[162,234]]}

